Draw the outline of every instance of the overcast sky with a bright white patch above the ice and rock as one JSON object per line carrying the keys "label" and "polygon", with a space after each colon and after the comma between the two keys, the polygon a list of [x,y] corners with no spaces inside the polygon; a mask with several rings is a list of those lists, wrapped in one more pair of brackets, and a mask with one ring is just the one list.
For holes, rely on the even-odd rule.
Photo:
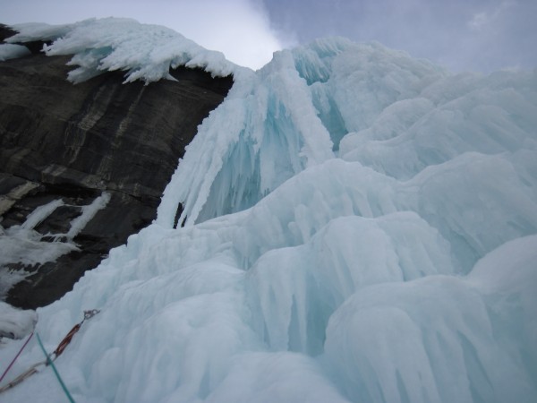
{"label": "overcast sky with a bright white patch above the ice and rock", "polygon": [[129,17],[172,28],[234,63],[339,35],[453,71],[537,66],[537,0],[0,0],[0,22]]}

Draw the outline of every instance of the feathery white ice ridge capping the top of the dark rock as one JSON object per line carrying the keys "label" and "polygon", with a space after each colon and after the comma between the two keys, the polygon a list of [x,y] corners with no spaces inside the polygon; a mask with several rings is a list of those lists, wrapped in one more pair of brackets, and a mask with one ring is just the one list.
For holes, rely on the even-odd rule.
{"label": "feathery white ice ridge capping the top of the dark rock", "polygon": [[43,48],[47,56],[73,55],[69,64],[77,68],[68,77],[75,83],[115,70],[126,72],[125,82],[175,80],[169,70],[179,65],[200,67],[215,76],[247,70],[175,30],[130,19],[90,19],[65,25],[27,23],[12,28],[19,33],[6,42],[50,41]]}

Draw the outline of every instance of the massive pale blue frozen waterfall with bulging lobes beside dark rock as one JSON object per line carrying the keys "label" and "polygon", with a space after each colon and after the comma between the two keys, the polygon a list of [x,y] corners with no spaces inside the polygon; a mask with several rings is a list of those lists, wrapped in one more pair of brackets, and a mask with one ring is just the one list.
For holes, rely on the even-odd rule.
{"label": "massive pale blue frozen waterfall with bulging lobes beside dark rock", "polygon": [[[130,64],[96,41],[73,61],[107,48],[124,59],[100,68],[149,81],[177,52]],[[236,74],[157,221],[37,330],[53,349],[101,310],[56,360],[77,401],[533,402],[536,116],[536,71],[454,75],[345,39],[278,52]],[[3,401],[61,401],[53,377]]]}

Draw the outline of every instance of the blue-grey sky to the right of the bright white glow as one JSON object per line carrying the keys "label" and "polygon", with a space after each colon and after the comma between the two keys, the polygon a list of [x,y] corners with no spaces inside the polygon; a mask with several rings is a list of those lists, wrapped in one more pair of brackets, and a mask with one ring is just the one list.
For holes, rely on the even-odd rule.
{"label": "blue-grey sky to the right of the bright white glow", "polygon": [[301,43],[377,40],[455,71],[537,67],[537,0],[264,1],[273,27]]}

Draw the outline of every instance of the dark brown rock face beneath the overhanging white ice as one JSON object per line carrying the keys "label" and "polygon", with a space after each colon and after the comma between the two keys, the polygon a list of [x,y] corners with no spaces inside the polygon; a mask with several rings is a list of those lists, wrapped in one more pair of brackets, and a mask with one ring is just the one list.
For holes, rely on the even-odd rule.
{"label": "dark brown rock face beneath the overhanging white ice", "polygon": [[61,199],[34,227],[47,241],[47,234],[66,234],[82,206],[103,192],[111,198],[73,238],[80,252],[24,267],[33,274],[6,299],[22,308],[63,296],[111,248],[155,219],[184,147],[233,84],[231,77],[180,68],[171,72],[178,81],[147,86],[122,84],[122,73],[73,85],[65,79],[68,60],[33,53],[0,62],[0,226],[20,226],[39,206]]}

